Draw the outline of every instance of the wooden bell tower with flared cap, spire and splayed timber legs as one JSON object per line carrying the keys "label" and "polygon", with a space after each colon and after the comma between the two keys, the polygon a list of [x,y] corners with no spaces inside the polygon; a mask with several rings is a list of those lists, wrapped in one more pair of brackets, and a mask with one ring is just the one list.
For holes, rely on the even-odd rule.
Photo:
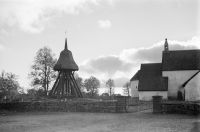
{"label": "wooden bell tower with flared cap, spire and splayed timber legs", "polygon": [[78,87],[74,72],[78,71],[78,65],[73,59],[72,52],[67,48],[67,38],[65,39],[65,49],[60,53],[60,57],[54,66],[54,70],[58,71],[58,77],[53,85],[49,96],[57,98],[83,98]]}

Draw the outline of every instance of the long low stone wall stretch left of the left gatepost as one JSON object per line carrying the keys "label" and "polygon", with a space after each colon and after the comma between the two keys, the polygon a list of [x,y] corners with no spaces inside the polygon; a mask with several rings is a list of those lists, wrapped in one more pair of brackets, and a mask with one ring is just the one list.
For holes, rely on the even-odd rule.
{"label": "long low stone wall stretch left of the left gatepost", "polygon": [[16,112],[29,112],[29,111],[116,112],[116,101],[0,103],[0,110],[8,110]]}

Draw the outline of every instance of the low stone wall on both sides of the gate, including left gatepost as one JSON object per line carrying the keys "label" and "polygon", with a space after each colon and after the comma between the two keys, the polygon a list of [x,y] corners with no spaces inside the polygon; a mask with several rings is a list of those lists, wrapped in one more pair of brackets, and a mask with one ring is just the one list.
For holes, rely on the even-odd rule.
{"label": "low stone wall on both sides of the gate, including left gatepost", "polygon": [[[129,105],[137,107],[140,111],[142,104],[131,104],[127,97],[120,97],[117,100],[96,101],[96,102],[17,102],[17,103],[0,103],[0,111],[16,112],[129,112]],[[137,102],[138,103],[138,102]],[[140,108],[141,107],[141,108]],[[200,103],[192,102],[161,102],[162,113],[178,114],[195,114],[200,115]],[[130,108],[129,108],[130,109]],[[128,109],[128,110],[129,110]]]}

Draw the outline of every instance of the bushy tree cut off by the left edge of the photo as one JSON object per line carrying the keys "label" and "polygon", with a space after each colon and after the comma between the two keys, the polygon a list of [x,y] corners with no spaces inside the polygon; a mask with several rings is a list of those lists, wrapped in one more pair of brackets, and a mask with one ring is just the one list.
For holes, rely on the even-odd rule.
{"label": "bushy tree cut off by the left edge of the photo", "polygon": [[0,75],[0,99],[3,97],[14,99],[19,94],[20,86],[17,79],[18,76],[14,73],[2,71]]}

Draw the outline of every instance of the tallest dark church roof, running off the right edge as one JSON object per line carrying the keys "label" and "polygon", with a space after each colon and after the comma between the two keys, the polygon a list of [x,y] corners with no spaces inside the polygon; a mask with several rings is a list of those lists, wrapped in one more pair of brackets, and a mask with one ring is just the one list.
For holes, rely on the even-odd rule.
{"label": "tallest dark church roof, running off the right edge", "polygon": [[162,70],[200,70],[200,50],[163,51]]}

